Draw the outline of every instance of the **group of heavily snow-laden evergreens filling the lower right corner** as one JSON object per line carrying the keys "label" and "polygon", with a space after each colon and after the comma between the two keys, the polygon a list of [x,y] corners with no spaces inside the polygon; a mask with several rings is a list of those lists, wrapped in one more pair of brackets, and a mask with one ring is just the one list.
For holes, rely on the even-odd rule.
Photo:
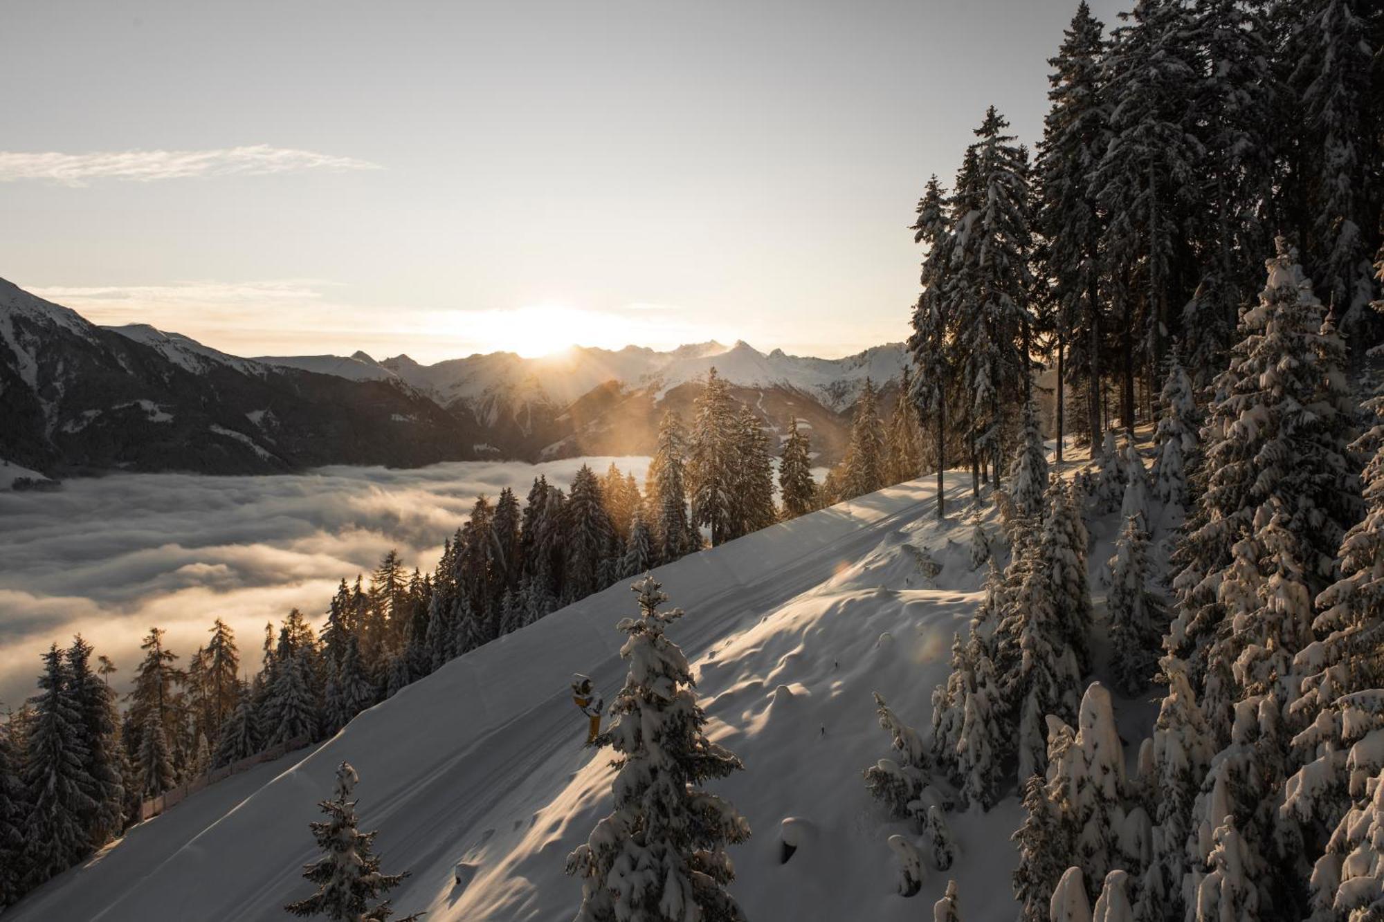
{"label": "group of heavily snow-laden evergreens filling the lower right corner", "polygon": [[[1295,251],[1276,251],[1205,403],[1168,372],[1153,480],[1164,514],[1186,503],[1172,611],[1154,590],[1149,473],[1132,444],[1107,446],[1117,461],[1048,486],[1037,516],[1008,497],[1010,561],[990,562],[930,742],[882,703],[905,759],[865,778],[894,815],[927,832],[941,779],[984,808],[1021,790],[1026,922],[1085,922],[1092,901],[1098,919],[1139,922],[1384,914],[1384,397],[1356,437],[1336,325]],[[1046,480],[1026,439],[1012,486]],[[1080,691],[1095,667],[1082,512],[1113,512],[1113,494],[1103,669],[1161,695],[1132,772],[1110,694]],[[980,529],[976,561],[1001,545]]]}

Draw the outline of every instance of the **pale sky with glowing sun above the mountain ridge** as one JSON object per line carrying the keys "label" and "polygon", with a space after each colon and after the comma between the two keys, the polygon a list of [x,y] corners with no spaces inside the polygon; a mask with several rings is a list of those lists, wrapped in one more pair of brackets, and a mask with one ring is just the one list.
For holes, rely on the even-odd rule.
{"label": "pale sky with glowing sun above the mountain ridge", "polygon": [[858,352],[1075,6],[0,0],[0,277],[238,354]]}

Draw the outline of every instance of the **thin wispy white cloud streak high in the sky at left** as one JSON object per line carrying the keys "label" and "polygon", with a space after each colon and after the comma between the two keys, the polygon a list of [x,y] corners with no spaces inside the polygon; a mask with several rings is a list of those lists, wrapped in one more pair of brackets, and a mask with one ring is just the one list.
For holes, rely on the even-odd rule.
{"label": "thin wispy white cloud streak high in the sky at left", "polygon": [[354,156],[255,144],[210,151],[97,151],[91,154],[25,154],[0,151],[0,183],[46,180],[86,186],[118,179],[149,183],[195,176],[266,176],[302,170],[378,170],[378,163]]}

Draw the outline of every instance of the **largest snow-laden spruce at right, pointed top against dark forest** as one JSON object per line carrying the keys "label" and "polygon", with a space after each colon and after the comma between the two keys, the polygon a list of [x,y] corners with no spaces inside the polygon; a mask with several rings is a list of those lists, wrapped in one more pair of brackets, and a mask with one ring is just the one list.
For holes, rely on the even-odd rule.
{"label": "largest snow-laden spruce at right, pointed top against dark forest", "polygon": [[[1359,515],[1337,386],[1322,360],[1322,305],[1282,238],[1266,266],[1259,303],[1243,313],[1241,339],[1217,378],[1200,501],[1175,552],[1171,642],[1194,683],[1205,681],[1211,641],[1223,634],[1221,575],[1236,543],[1255,533],[1261,508],[1283,514],[1291,557],[1313,594],[1334,579],[1336,550]],[[1215,723],[1207,696],[1203,703]]]}

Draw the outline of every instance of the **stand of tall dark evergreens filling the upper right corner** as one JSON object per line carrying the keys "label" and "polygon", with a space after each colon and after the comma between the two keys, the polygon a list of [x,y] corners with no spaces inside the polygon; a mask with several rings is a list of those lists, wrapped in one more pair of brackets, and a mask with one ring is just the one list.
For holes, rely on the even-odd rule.
{"label": "stand of tall dark evergreens filling the upper right corner", "polygon": [[1381,329],[1381,47],[1365,0],[1139,0],[1109,35],[1081,3],[1037,156],[991,108],[951,191],[934,176],[918,204],[912,397],[937,468],[967,460],[977,496],[1001,479],[1035,354],[1059,435],[1093,449],[1109,393],[1131,433],[1153,418],[1175,342],[1208,385],[1279,233],[1360,359]]}

